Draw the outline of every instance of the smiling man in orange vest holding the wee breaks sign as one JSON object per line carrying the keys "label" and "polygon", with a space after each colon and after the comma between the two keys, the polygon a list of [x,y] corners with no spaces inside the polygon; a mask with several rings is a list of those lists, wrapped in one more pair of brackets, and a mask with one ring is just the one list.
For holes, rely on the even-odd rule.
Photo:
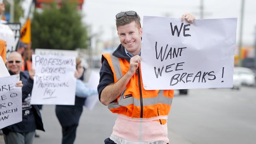
{"label": "smiling man in orange vest holding the wee breaks sign", "polygon": [[[181,20],[192,23],[190,13]],[[135,11],[116,15],[121,44],[102,55],[99,100],[117,113],[113,133],[105,144],[167,144],[167,115],[174,90],[145,90],[141,78],[142,28]]]}

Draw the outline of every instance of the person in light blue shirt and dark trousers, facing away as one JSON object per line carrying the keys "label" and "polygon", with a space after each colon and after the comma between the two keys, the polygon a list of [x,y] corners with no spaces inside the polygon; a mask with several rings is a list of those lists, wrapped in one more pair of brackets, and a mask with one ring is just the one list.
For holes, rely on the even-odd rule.
{"label": "person in light blue shirt and dark trousers, facing away", "polygon": [[96,90],[89,89],[87,84],[79,78],[83,76],[82,61],[76,58],[76,97],[75,105],[56,105],[56,116],[62,128],[62,144],[73,144],[76,138],[76,128],[83,111],[83,105],[88,96],[97,94]]}

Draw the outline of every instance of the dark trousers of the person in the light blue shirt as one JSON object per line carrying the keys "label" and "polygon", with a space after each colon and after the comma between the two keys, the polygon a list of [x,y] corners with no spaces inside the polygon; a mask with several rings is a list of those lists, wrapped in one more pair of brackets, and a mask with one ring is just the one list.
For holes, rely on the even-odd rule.
{"label": "dark trousers of the person in the light blue shirt", "polygon": [[76,128],[83,111],[83,106],[56,105],[56,116],[62,128],[62,144],[73,144]]}

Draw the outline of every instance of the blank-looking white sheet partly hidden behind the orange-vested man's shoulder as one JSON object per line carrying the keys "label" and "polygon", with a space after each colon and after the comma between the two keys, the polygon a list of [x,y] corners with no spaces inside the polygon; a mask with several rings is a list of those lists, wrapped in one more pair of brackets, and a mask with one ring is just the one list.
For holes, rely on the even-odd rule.
{"label": "blank-looking white sheet partly hidden behind the orange-vested man's shoulder", "polygon": [[[100,81],[99,73],[92,70],[90,74],[90,78],[88,80],[88,87],[91,89],[97,90],[99,81]],[[98,102],[98,94],[93,94],[92,96],[89,96],[86,98],[84,106],[87,107],[89,110],[93,110],[97,102]]]}

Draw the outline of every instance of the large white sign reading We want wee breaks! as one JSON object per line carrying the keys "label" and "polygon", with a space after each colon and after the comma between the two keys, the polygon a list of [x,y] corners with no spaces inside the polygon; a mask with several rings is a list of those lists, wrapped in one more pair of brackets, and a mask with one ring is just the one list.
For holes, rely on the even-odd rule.
{"label": "large white sign reading We want wee breaks!", "polygon": [[237,18],[144,17],[143,87],[196,89],[233,86]]}

